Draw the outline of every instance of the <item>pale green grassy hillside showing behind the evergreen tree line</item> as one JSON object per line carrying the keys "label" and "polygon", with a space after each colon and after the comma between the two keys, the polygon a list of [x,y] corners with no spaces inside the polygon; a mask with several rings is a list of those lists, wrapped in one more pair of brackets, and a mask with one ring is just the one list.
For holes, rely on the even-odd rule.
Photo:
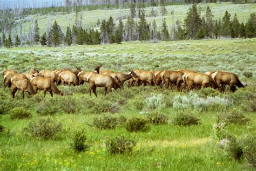
{"label": "pale green grassy hillside showing behind the evergreen tree line", "polygon": [[[191,5],[169,5],[166,6],[167,9],[167,15],[164,16],[166,18],[166,23],[170,27],[172,26],[172,16],[171,12],[174,11],[174,22],[176,22],[177,19],[179,19],[181,22],[184,22],[184,19],[186,17],[186,13],[188,8],[190,8]],[[231,4],[230,2],[221,3],[221,4],[215,4],[215,3],[208,3],[208,4],[198,4],[199,11],[201,12],[201,16],[205,15],[205,11],[207,6],[210,6],[214,18],[219,19],[224,16],[225,11],[231,13],[231,18],[233,18],[234,13],[237,13],[239,22],[246,22],[246,20],[250,17],[250,13],[256,12],[256,4]],[[153,19],[156,19],[156,22],[158,25],[161,24],[161,20],[163,17],[161,17],[160,8],[154,7],[154,10],[157,11],[158,16],[157,17],[149,17],[150,11],[152,8],[145,8],[146,10],[146,19],[148,23],[153,22]],[[124,9],[122,12],[122,16],[126,18],[130,15],[130,9]],[[33,19],[38,20],[38,26],[40,28],[40,32],[43,33],[47,30],[49,24],[53,24],[53,22],[56,20],[57,23],[60,25],[60,28],[62,28],[62,31],[65,32],[67,26],[72,26],[75,24],[75,12],[70,14],[63,14],[63,13],[49,13],[49,15],[31,15],[26,17],[22,20],[16,20],[16,23],[23,22],[23,30],[25,32],[29,31],[29,26],[31,25],[30,21]],[[119,17],[119,9],[116,10],[93,10],[93,11],[82,11],[82,26],[83,28],[97,28],[96,22],[97,19],[103,20],[103,19],[109,19],[110,16],[114,18],[116,23],[118,23],[118,17]],[[80,18],[80,13],[79,13]],[[51,21],[51,22],[50,22]],[[50,22],[50,23],[49,23]],[[126,19],[123,20],[123,22],[126,22]]]}

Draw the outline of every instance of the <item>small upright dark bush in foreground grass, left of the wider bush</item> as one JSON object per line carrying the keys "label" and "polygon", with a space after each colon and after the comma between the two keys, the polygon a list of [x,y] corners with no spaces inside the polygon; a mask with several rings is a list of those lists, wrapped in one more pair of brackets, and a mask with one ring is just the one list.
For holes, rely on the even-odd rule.
{"label": "small upright dark bush in foreground grass, left of the wider bush", "polygon": [[84,131],[77,131],[75,136],[73,136],[73,143],[71,144],[71,148],[74,149],[76,152],[84,152],[89,145],[85,144],[86,135]]}

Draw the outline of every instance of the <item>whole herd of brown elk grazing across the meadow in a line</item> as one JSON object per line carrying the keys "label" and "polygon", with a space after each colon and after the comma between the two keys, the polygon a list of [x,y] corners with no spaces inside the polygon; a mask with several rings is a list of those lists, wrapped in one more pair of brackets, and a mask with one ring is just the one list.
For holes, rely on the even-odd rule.
{"label": "whole herd of brown elk grazing across the meadow in a line", "polygon": [[166,88],[176,86],[177,91],[182,91],[186,87],[187,91],[193,88],[212,87],[225,93],[226,85],[230,86],[230,91],[235,92],[237,87],[245,87],[242,85],[237,75],[231,72],[209,71],[206,73],[198,73],[192,70],[177,71],[145,71],[130,70],[129,73],[113,72],[110,70],[102,70],[101,66],[97,66],[95,71],[82,71],[77,68],[76,71],[70,69],[60,69],[55,71],[31,69],[29,73],[17,73],[15,70],[6,69],[3,71],[3,86],[12,87],[11,97],[15,98],[17,90],[22,92],[24,99],[24,91],[29,94],[36,94],[38,90],[43,90],[44,96],[46,91],[63,95],[57,88],[58,85],[79,86],[85,82],[89,84],[89,93],[91,91],[96,95],[97,87],[105,87],[105,95],[107,91],[112,92],[112,88],[123,88],[125,81],[129,81],[128,87],[149,85]]}

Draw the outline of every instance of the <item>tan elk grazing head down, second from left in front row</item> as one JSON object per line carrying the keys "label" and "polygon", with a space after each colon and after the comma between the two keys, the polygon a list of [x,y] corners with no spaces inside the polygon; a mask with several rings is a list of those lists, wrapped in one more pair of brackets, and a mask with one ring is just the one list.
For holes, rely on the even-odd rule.
{"label": "tan elk grazing head down, second from left in front row", "polygon": [[53,97],[52,92],[58,95],[63,95],[63,93],[58,90],[56,85],[53,83],[53,80],[50,78],[34,77],[31,79],[31,85],[33,86],[36,93],[37,90],[43,90],[44,96],[46,91],[50,92],[51,97]]}

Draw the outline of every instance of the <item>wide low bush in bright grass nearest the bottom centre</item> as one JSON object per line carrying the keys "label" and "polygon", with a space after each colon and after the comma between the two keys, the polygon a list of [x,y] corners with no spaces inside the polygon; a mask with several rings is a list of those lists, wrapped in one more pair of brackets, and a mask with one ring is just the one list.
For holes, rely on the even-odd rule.
{"label": "wide low bush in bright grass nearest the bottom centre", "polygon": [[105,146],[110,154],[131,153],[136,146],[136,142],[132,139],[126,139],[124,136],[117,136],[116,138],[106,138]]}

